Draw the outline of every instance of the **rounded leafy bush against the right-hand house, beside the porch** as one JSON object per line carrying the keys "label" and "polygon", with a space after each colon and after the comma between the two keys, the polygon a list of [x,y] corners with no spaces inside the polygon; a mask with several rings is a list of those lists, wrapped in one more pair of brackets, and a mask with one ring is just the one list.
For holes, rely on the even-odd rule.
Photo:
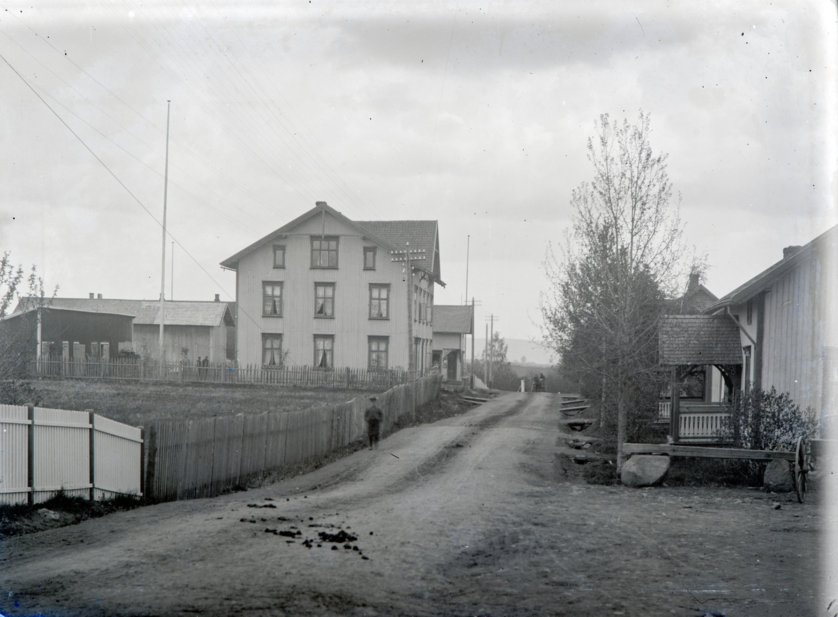
{"label": "rounded leafy bush against the right-hand house, beside the porch", "polygon": [[789,393],[752,389],[731,412],[723,439],[746,450],[794,450],[799,437],[810,440],[817,433],[815,412],[804,412]]}

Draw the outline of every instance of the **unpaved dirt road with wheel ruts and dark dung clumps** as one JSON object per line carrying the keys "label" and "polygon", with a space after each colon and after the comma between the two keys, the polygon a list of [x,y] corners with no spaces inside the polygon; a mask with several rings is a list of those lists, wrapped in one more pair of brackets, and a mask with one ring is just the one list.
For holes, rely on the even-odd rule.
{"label": "unpaved dirt road with wheel ruts and dark dung clumps", "polygon": [[[510,393],[294,480],[13,537],[0,612],[826,614],[816,503],[566,481],[556,406]],[[318,547],[338,527],[359,551]]]}

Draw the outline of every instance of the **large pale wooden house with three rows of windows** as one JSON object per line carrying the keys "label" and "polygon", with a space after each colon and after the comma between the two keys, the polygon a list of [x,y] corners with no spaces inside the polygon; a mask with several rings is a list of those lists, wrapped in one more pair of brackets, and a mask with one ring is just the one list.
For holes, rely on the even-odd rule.
{"label": "large pale wooden house with three rows of windows", "polygon": [[221,266],[242,366],[406,369],[412,347],[416,373],[431,368],[437,221],[353,221],[318,202]]}

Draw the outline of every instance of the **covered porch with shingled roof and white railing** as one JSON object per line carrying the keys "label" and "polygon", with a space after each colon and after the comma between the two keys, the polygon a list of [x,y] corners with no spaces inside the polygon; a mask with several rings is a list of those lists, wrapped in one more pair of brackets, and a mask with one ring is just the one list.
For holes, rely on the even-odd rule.
{"label": "covered porch with shingled roof and white railing", "polygon": [[660,366],[670,369],[659,422],[670,424],[672,443],[720,438],[742,383],[739,328],[726,315],[671,315],[660,327]]}

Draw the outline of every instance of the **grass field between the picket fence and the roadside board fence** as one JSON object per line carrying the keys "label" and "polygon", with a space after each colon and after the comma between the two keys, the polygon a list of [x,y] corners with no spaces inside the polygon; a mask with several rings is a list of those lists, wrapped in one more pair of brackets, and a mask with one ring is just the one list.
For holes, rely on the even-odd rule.
{"label": "grass field between the picket fence and the roadside board fence", "polygon": [[261,414],[345,403],[366,390],[278,388],[210,383],[131,383],[93,380],[33,380],[41,407],[93,409],[117,422],[140,426],[152,420]]}

